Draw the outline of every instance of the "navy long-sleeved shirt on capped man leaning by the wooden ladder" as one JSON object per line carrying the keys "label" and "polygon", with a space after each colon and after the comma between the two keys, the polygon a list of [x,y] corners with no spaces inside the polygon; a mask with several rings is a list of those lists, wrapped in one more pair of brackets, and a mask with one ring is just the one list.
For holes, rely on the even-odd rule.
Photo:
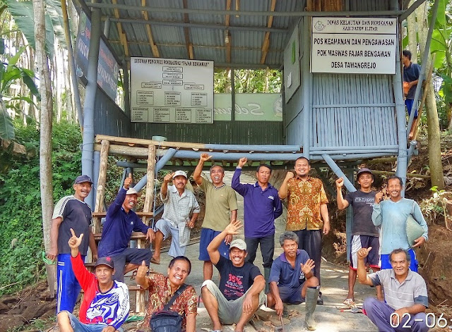
{"label": "navy long-sleeved shirt on capped man leaning by the wooden ladder", "polygon": [[132,231],[145,234],[150,228],[134,211],[130,210],[128,213],[124,211],[122,204],[126,199],[126,192],[122,187],[112,205],[108,207],[98,248],[99,257],[120,254],[129,246]]}

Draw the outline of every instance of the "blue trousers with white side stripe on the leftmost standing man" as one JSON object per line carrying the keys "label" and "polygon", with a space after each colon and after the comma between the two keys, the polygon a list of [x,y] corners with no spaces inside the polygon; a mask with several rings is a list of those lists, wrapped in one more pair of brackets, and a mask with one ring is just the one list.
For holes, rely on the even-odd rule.
{"label": "blue trousers with white side stripe on the leftmost standing man", "polygon": [[[82,256],[85,262],[85,256]],[[73,311],[81,286],[72,271],[71,254],[58,254],[57,259],[57,314]]]}

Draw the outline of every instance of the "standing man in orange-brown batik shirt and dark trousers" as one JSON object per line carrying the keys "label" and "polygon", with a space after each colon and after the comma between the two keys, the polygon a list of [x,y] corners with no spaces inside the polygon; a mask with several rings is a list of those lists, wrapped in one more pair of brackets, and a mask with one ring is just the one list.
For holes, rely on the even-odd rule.
{"label": "standing man in orange-brown batik shirt and dark trousers", "polygon": [[[295,175],[287,172],[279,190],[280,199],[287,197],[287,225],[286,230],[292,230],[299,238],[299,248],[306,250],[314,260],[314,276],[320,279],[320,265],[322,259],[322,234],[330,231],[330,217],[328,216],[328,199],[323,183],[318,178],[309,176],[311,164],[304,156],[295,161]],[[319,293],[318,305],[323,305],[323,298]]]}

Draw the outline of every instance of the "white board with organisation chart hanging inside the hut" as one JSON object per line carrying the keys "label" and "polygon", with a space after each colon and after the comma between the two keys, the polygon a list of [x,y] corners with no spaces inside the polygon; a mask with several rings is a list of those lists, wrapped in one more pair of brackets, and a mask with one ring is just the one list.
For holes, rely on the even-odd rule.
{"label": "white board with organisation chart hanging inside the hut", "polygon": [[131,58],[131,121],[213,123],[213,61]]}

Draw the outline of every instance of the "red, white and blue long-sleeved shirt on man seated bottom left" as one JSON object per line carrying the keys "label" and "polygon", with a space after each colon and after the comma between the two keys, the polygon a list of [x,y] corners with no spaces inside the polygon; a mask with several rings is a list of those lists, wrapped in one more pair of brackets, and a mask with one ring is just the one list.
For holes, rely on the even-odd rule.
{"label": "red, white and blue long-sleeved shirt on man seated bottom left", "polygon": [[80,306],[83,324],[107,324],[118,329],[129,316],[129,289],[125,283],[113,281],[113,286],[102,293],[94,273],[83,264],[80,254],[71,257],[73,273],[85,292]]}

